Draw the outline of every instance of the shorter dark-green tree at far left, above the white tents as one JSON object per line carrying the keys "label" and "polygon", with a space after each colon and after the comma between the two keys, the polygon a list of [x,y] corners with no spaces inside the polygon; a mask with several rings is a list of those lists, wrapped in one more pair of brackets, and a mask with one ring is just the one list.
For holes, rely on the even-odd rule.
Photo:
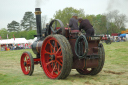
{"label": "shorter dark-green tree at far left, above the white tents", "polygon": [[18,32],[20,31],[20,24],[13,20],[7,25],[7,28],[9,32]]}

